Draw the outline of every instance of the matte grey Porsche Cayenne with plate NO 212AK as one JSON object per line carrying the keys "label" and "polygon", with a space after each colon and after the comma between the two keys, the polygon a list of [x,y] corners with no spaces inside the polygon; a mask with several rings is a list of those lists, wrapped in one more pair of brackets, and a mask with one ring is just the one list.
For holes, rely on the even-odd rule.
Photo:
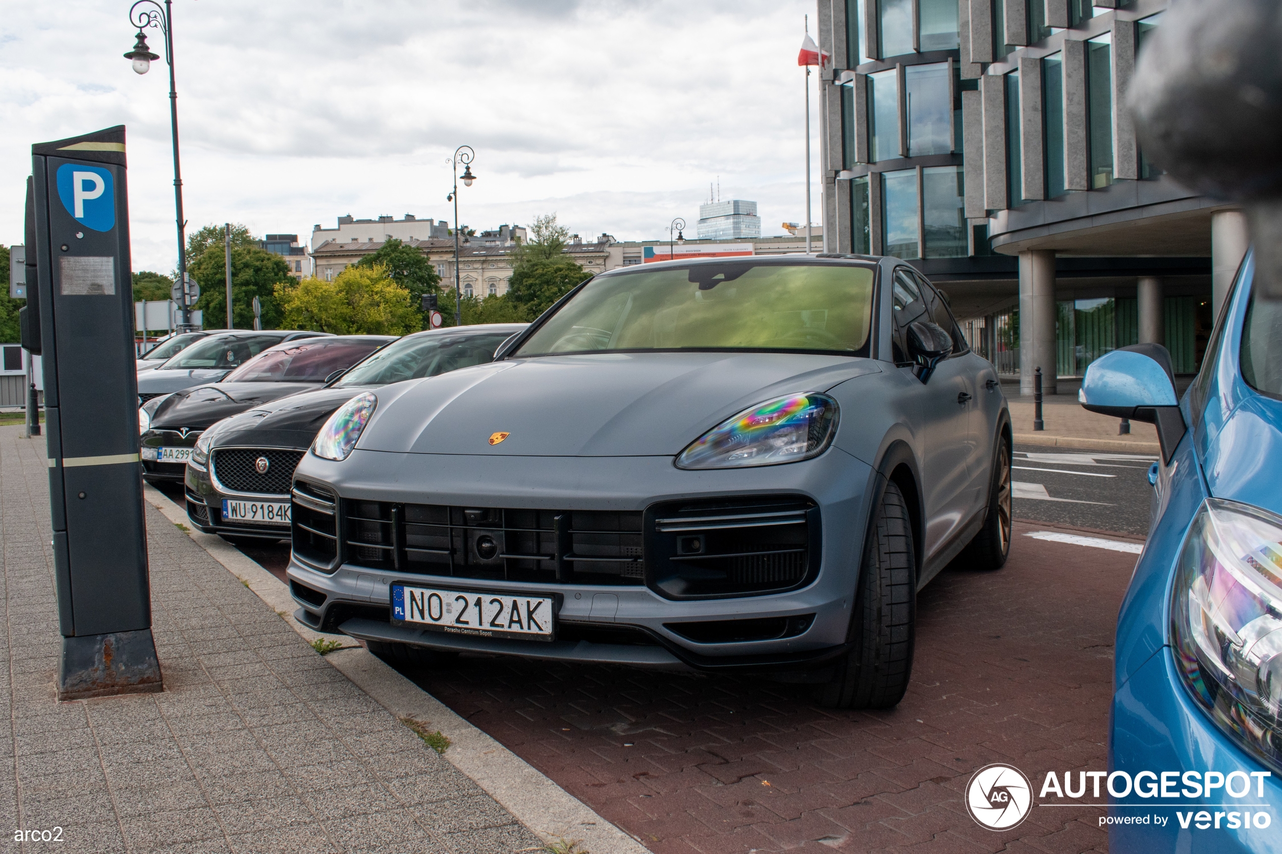
{"label": "matte grey Porsche Cayenne with plate NO 212AK", "polygon": [[290,588],[385,657],[751,670],[894,705],[917,592],[1010,545],[1010,419],[894,257],[597,275],[495,361],[363,392],[292,485]]}

